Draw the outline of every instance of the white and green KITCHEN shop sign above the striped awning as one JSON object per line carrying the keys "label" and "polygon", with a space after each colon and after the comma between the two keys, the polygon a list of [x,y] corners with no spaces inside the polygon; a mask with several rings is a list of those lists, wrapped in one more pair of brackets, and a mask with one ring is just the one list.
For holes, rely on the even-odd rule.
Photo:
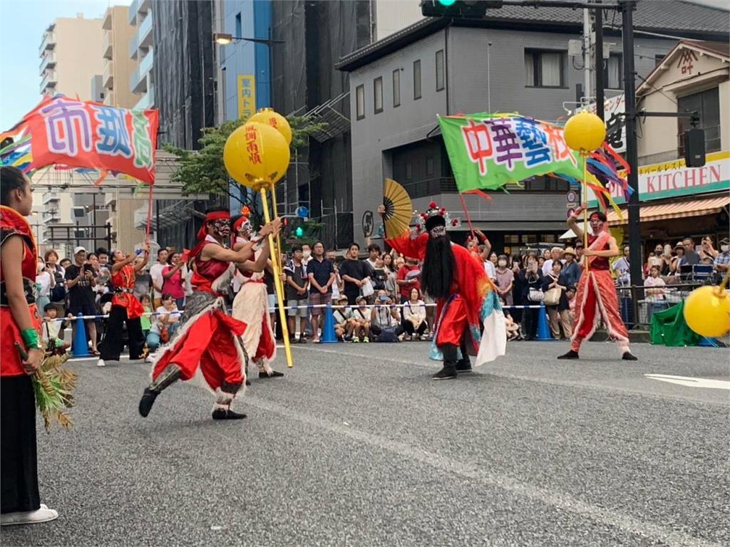
{"label": "white and green KITCHEN shop sign above the striped awning", "polygon": [[[704,167],[687,167],[684,159],[639,167],[640,201],[718,190],[730,190],[730,152],[707,154]],[[589,205],[595,205],[596,198],[590,195]],[[626,202],[617,189],[612,189],[612,196],[616,203]]]}

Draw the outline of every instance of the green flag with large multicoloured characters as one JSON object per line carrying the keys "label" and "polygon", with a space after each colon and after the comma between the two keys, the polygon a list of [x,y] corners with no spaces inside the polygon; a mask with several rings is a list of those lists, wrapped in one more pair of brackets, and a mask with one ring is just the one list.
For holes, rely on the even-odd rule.
{"label": "green flag with large multicoloured characters", "polygon": [[547,173],[583,178],[583,159],[558,125],[518,115],[439,116],[460,192],[494,190]]}

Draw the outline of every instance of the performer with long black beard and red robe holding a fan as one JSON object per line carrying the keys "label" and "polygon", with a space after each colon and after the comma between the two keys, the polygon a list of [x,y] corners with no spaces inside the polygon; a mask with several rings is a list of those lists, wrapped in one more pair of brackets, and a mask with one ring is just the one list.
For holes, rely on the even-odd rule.
{"label": "performer with long black beard and red robe holding a fan", "polygon": [[[385,206],[377,211],[385,214]],[[385,241],[401,254],[423,260],[420,286],[437,302],[430,357],[444,362],[433,379],[454,379],[457,373],[472,372],[469,354],[477,354],[477,366],[504,355],[504,314],[483,264],[465,247],[451,243],[445,209],[432,202],[422,218],[425,231],[419,236],[386,233]]]}

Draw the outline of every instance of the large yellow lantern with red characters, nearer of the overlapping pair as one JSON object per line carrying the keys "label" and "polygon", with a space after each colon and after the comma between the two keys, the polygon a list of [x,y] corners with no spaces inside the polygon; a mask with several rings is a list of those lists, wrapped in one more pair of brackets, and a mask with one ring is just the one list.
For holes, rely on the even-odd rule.
{"label": "large yellow lantern with red characters, nearer of the overlapping pair", "polygon": [[264,123],[247,122],[223,147],[223,163],[240,185],[254,190],[278,182],[289,166],[291,153],[284,136]]}

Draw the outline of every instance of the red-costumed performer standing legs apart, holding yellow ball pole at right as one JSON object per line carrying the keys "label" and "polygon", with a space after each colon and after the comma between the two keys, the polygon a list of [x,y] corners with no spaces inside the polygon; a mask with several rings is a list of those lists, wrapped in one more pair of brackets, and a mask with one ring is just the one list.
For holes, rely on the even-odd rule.
{"label": "red-costumed performer standing legs apart, holding yellow ball pole at right", "polygon": [[[586,205],[583,203],[583,209]],[[568,218],[568,226],[575,235],[583,239],[583,229],[578,224],[578,216],[582,209],[577,209]],[[620,254],[616,239],[611,236],[606,223],[606,215],[602,212],[593,212],[588,217],[591,224],[591,232],[588,234],[588,247],[583,251],[583,260],[588,260],[588,270],[585,270],[583,263],[583,275],[578,282],[577,295],[575,295],[575,321],[573,322],[573,335],[570,342],[570,351],[561,355],[558,359],[577,359],[580,344],[586,338],[590,339],[596,331],[599,319],[602,319],[604,327],[611,338],[618,344],[621,351],[621,358],[627,361],[635,361],[637,358],[629,349],[629,333],[626,325],[621,321],[621,314],[618,311],[618,297],[611,277],[610,257],[618,257]]]}

